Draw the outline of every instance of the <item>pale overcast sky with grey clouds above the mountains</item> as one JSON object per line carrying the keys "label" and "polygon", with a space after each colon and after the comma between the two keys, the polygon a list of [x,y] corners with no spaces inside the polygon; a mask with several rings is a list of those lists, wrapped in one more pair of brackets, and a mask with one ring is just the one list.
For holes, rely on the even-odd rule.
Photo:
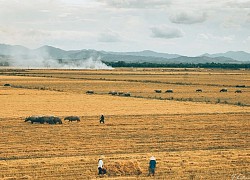
{"label": "pale overcast sky with grey clouds above the mountains", "polygon": [[0,0],[0,44],[187,56],[250,52],[250,1]]}

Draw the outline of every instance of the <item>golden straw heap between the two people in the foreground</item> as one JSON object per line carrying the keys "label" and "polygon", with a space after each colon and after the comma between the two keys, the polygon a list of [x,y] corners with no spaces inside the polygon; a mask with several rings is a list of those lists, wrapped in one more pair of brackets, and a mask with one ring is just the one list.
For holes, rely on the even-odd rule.
{"label": "golden straw heap between the two people in the foreground", "polygon": [[105,165],[110,176],[140,175],[142,170],[137,161],[116,161]]}

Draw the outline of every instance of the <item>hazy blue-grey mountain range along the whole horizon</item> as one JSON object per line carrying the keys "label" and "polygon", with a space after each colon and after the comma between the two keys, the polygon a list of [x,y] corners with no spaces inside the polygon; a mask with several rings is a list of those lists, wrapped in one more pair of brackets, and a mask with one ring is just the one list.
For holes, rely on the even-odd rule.
{"label": "hazy blue-grey mountain range along the whole horizon", "polygon": [[[0,62],[16,62],[26,60],[57,60],[60,63],[69,61],[81,61],[89,58],[98,59],[105,62],[151,62],[151,63],[250,63],[250,53],[244,51],[229,51],[218,54],[203,54],[197,57],[187,57],[178,54],[158,53],[150,50],[140,52],[107,52],[96,50],[70,50],[55,48],[52,46],[42,46],[38,49],[28,49],[19,45],[0,44]],[[14,60],[15,59],[15,60]]]}

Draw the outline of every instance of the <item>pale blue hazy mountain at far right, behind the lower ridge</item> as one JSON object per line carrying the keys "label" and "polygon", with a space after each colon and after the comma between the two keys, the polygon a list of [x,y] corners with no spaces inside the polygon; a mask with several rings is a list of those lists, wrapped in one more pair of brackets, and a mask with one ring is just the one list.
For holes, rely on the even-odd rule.
{"label": "pale blue hazy mountain at far right, behind the lower ridge", "polygon": [[228,57],[235,59],[237,61],[248,61],[250,62],[250,53],[244,51],[228,51],[226,53],[217,53],[217,54],[203,54],[202,56],[207,57]]}

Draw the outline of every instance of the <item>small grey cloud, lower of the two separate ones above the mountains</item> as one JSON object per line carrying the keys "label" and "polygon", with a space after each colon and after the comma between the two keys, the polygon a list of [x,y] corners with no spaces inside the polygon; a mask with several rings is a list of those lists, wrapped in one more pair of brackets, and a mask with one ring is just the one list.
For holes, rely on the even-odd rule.
{"label": "small grey cloud, lower of the two separate ones above the mountains", "polygon": [[184,35],[182,30],[174,27],[169,27],[167,25],[154,26],[151,28],[151,31],[153,33],[152,37],[155,38],[172,39],[172,38],[179,38]]}

